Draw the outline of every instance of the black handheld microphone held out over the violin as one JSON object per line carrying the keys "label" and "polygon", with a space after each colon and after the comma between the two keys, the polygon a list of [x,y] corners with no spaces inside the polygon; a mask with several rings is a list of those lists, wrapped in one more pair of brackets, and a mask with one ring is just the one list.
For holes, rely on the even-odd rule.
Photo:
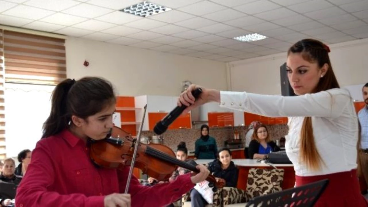
{"label": "black handheld microphone held out over the violin", "polygon": [[[194,91],[192,91],[192,95],[195,99],[199,97],[199,95],[202,93],[202,88],[197,88]],[[168,113],[165,117],[163,117],[162,120],[156,123],[155,128],[153,128],[153,131],[155,134],[160,135],[164,133],[167,130],[167,127],[170,126],[173,121],[183,113],[184,109],[186,109],[187,106],[182,104],[181,106],[176,106],[170,113]]]}

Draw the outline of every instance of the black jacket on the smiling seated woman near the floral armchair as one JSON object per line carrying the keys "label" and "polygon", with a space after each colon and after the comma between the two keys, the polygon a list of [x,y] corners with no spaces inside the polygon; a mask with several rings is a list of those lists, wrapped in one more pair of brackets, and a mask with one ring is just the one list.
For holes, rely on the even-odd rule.
{"label": "black jacket on the smiling seated woman near the floral armchair", "polygon": [[221,162],[218,159],[208,163],[208,170],[216,178],[222,178],[226,180],[226,187],[236,187],[238,183],[239,169],[231,161],[230,165],[226,169],[222,169]]}

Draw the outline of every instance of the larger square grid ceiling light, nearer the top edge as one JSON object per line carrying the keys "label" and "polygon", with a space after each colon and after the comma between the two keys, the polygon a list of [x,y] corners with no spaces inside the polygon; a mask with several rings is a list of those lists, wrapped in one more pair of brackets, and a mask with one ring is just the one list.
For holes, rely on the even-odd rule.
{"label": "larger square grid ceiling light, nearer the top edge", "polygon": [[123,8],[123,11],[128,14],[134,14],[140,17],[148,17],[151,15],[163,13],[165,11],[170,11],[171,8],[160,6],[158,4],[153,4],[148,1],[143,1],[142,3],[134,4],[133,6]]}

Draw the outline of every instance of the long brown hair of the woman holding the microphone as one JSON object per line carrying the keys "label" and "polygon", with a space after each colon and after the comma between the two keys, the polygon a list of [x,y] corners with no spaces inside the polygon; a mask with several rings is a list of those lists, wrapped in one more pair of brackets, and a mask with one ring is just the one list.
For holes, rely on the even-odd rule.
{"label": "long brown hair of the woman holding the microphone", "polygon": [[[328,64],[326,74],[319,79],[312,93],[326,91],[332,88],[340,88],[332,70],[330,57],[328,55],[329,52],[330,49],[327,45],[315,39],[302,39],[291,46],[287,52],[288,56],[290,53],[301,53],[304,60],[311,63],[317,62],[319,68]],[[300,135],[300,161],[304,162],[309,169],[321,169],[322,158],[316,148],[313,136],[312,118],[310,116],[304,118]]]}

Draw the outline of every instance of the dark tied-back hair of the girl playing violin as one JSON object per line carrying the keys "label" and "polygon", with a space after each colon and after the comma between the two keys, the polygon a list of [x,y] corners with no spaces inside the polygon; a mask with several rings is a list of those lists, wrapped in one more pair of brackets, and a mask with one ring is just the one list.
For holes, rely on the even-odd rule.
{"label": "dark tied-back hair of the girl playing violin", "polygon": [[42,138],[53,136],[66,129],[72,115],[86,119],[115,101],[112,84],[103,78],[64,80],[57,84],[52,92],[51,112],[43,124]]}

